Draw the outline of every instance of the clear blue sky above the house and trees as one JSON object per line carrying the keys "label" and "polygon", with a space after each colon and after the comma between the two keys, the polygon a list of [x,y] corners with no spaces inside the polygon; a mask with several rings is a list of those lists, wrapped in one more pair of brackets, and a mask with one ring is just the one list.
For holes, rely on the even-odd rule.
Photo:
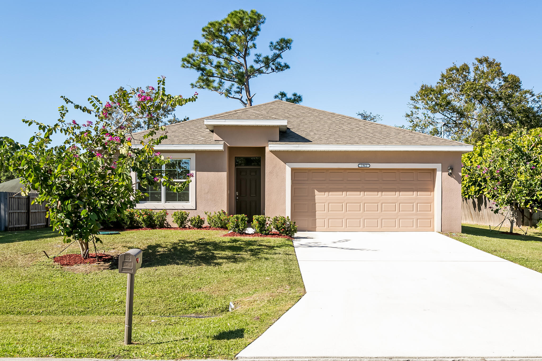
{"label": "clear blue sky above the house and trees", "polygon": [[[291,69],[251,82],[256,104],[295,91],[308,107],[350,116],[366,110],[401,125],[421,84],[480,56],[496,58],[525,88],[542,91],[540,1],[4,0],[0,9],[0,136],[24,143],[36,129],[21,119],[54,123],[61,95],[105,100],[120,86],[154,85],[161,75],[168,93],[192,95],[197,73],[180,68],[180,59],[204,25],[236,9],[266,16],[256,42],[263,54],[269,41],[293,39],[284,54]],[[177,117],[242,107],[198,93]],[[67,117],[88,115],[72,110]]]}

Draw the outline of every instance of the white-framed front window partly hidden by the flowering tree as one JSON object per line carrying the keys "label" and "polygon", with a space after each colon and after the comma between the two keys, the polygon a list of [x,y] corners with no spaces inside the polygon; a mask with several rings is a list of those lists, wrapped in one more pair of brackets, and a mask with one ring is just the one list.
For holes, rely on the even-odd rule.
{"label": "white-framed front window partly hidden by the flowering tree", "polygon": [[[178,182],[184,182],[186,180],[186,176],[189,173],[195,173],[193,171],[194,165],[193,160],[194,157],[192,154],[176,154],[177,156],[183,156],[183,155],[189,155],[187,157],[179,158],[179,159],[170,159],[165,165],[162,166],[162,169],[155,169],[158,172],[162,172],[162,174],[166,175],[168,178],[170,178],[173,181]],[[186,187],[181,192],[172,192],[169,188],[166,188],[165,186],[154,186],[154,187],[141,187],[139,186],[139,189],[141,192],[147,193],[148,196],[143,198],[141,202],[145,203],[154,203],[154,204],[162,204],[164,205],[164,208],[177,208],[176,206],[165,206],[167,203],[171,204],[179,204],[179,209],[186,208],[183,206],[188,206],[189,208],[195,207],[195,178],[192,178],[192,181],[190,182],[189,186]],[[157,207],[161,207],[157,205]]]}

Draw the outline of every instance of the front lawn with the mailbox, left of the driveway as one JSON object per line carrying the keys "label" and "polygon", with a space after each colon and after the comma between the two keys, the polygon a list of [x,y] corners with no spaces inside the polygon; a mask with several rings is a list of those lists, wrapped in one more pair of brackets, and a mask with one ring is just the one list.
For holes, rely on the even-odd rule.
{"label": "front lawn with the mailbox, left of the driveway", "polygon": [[116,265],[54,264],[42,251],[55,255],[66,244],[50,229],[0,233],[0,357],[233,358],[305,289],[291,240],[222,233],[102,237],[99,251],[143,250],[128,346],[126,274]]}

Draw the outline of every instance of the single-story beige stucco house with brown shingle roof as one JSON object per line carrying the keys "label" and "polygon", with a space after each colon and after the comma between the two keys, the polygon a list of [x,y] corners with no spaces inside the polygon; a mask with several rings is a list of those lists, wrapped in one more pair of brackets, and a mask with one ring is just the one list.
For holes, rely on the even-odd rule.
{"label": "single-story beige stucco house with brown shingle roof", "polygon": [[470,145],[280,100],[166,129],[164,172],[195,176],[182,193],[146,189],[138,208],[287,215],[299,231],[461,231]]}

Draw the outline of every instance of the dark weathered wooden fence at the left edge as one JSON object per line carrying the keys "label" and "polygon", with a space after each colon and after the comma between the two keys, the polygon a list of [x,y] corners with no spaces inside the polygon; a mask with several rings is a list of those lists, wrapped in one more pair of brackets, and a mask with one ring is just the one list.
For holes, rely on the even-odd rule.
{"label": "dark weathered wooden fence at the left edge", "polygon": [[20,193],[0,192],[0,232],[48,227],[47,208],[32,203],[36,196],[36,193],[22,196]]}

